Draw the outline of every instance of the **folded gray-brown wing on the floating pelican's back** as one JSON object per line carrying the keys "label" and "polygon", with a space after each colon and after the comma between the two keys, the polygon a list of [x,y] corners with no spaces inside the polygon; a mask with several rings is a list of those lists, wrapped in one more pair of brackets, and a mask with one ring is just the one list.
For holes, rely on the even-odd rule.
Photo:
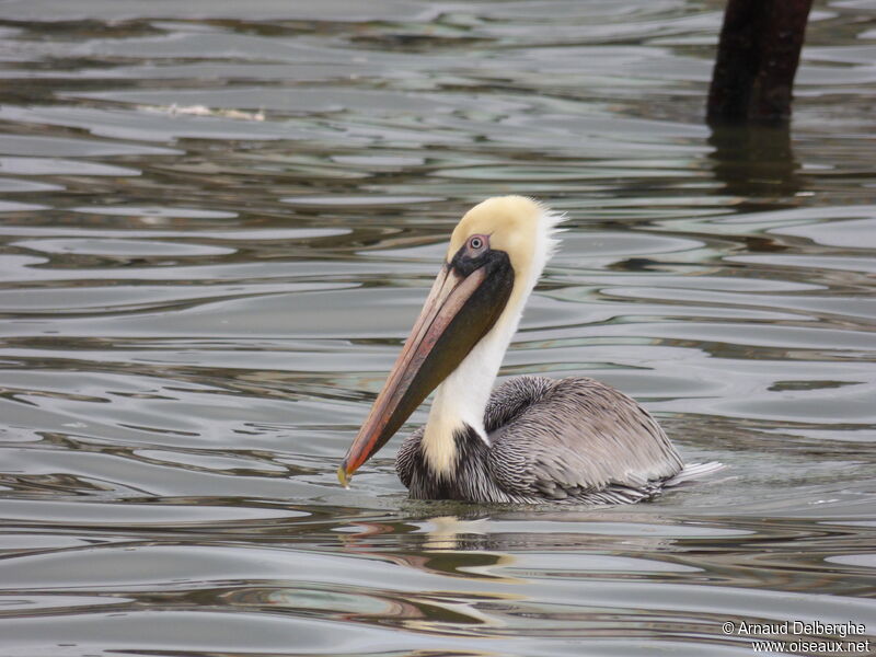
{"label": "folded gray-brown wing on the floating pelican's back", "polygon": [[634,502],[682,469],[648,412],[593,379],[511,379],[485,424],[493,476],[512,496]]}

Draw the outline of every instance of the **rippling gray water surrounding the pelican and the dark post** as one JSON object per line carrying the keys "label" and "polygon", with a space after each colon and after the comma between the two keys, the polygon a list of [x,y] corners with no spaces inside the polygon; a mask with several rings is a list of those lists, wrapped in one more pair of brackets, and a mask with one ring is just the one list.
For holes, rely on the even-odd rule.
{"label": "rippling gray water surrounding the pelican and the dark post", "polygon": [[[817,3],[789,131],[704,125],[722,11],[0,2],[0,653],[876,639],[876,5]],[[338,486],[450,230],[507,193],[569,230],[502,374],[614,384],[719,476],[412,503],[396,438]]]}

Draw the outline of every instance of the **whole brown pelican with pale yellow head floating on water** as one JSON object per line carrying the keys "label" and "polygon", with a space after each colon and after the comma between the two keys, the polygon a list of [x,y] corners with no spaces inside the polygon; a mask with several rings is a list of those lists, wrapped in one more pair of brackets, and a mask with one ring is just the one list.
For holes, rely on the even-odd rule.
{"label": "whole brown pelican with pale yellow head floating on water", "polygon": [[648,412],[604,383],[518,377],[491,394],[561,219],[520,196],[489,198],[462,218],[337,471],[344,486],[436,389],[426,426],[395,460],[416,499],[632,503],[703,472],[685,469]]}

